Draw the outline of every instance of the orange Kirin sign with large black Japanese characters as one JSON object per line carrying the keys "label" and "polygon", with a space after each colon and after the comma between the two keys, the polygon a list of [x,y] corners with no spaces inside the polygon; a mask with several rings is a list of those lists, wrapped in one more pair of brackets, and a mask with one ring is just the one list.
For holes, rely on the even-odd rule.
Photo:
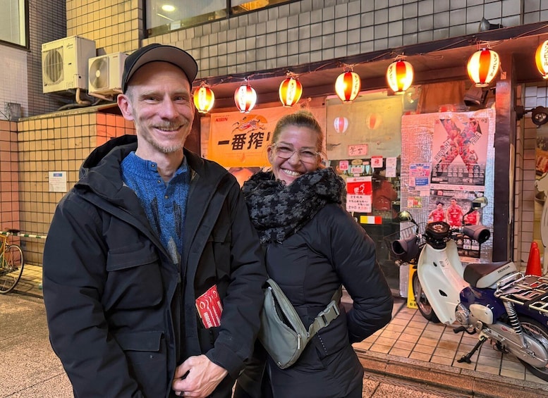
{"label": "orange Kirin sign with large black Japanese characters", "polygon": [[267,147],[276,122],[287,108],[265,108],[251,113],[213,113],[207,158],[224,167],[268,166]]}

